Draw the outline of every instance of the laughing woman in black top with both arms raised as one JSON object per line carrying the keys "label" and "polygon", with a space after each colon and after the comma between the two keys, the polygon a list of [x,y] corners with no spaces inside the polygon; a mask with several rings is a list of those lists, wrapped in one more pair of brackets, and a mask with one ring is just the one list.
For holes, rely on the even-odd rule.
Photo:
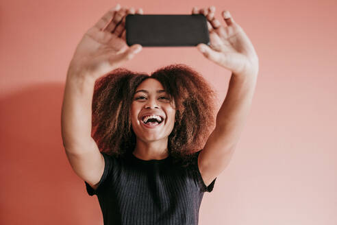
{"label": "laughing woman in black top with both arms raised", "polygon": [[197,224],[203,193],[228,165],[251,106],[258,56],[229,12],[225,27],[214,11],[192,14],[208,19],[211,45],[198,45],[201,54],[232,71],[216,119],[214,92],[190,67],[171,65],[151,76],[117,69],[142,48],[125,42],[133,8],[116,5],[77,46],[62,139],[75,173],[99,199],[104,224]]}

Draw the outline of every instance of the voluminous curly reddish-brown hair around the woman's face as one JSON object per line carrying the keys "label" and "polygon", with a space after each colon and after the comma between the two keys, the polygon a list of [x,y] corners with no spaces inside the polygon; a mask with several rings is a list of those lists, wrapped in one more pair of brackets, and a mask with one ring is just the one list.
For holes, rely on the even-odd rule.
{"label": "voluminous curly reddish-brown hair around the woman's face", "polygon": [[175,103],[175,125],[168,136],[168,153],[188,165],[214,130],[216,93],[197,71],[171,64],[151,75],[118,68],[95,82],[92,97],[92,138],[101,152],[123,157],[136,147],[129,110],[137,86],[148,78],[158,80]]}

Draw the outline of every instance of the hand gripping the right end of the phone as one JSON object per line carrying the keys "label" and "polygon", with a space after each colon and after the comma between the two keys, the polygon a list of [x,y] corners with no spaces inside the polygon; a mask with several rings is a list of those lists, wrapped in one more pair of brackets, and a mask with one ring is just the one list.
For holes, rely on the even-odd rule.
{"label": "hand gripping the right end of the phone", "polygon": [[251,40],[240,25],[234,21],[229,11],[225,10],[221,13],[227,26],[221,25],[215,19],[214,12],[214,6],[201,10],[197,10],[196,7],[192,9],[192,14],[203,14],[208,21],[210,46],[201,43],[197,45],[199,51],[212,62],[229,69],[236,75],[258,75],[258,55]]}

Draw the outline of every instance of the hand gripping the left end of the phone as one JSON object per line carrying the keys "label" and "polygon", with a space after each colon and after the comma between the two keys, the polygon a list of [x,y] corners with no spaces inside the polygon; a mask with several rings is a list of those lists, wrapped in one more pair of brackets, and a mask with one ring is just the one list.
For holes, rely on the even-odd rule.
{"label": "hand gripping the left end of the phone", "polygon": [[[96,80],[134,58],[142,46],[129,47],[125,38],[125,16],[134,13],[134,8],[127,10],[117,4],[88,29],[77,45],[68,73]],[[142,14],[142,9],[136,13]]]}

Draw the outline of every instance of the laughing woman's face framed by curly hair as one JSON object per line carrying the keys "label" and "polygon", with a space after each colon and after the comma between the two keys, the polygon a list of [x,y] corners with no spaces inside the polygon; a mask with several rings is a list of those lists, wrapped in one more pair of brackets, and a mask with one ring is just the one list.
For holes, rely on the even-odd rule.
{"label": "laughing woman's face framed by curly hair", "polygon": [[[173,107],[174,104],[171,105],[171,100],[158,80],[147,78],[139,84],[130,110],[132,129],[136,137],[145,142],[168,139],[175,124]],[[147,115],[157,116],[146,117]]]}

